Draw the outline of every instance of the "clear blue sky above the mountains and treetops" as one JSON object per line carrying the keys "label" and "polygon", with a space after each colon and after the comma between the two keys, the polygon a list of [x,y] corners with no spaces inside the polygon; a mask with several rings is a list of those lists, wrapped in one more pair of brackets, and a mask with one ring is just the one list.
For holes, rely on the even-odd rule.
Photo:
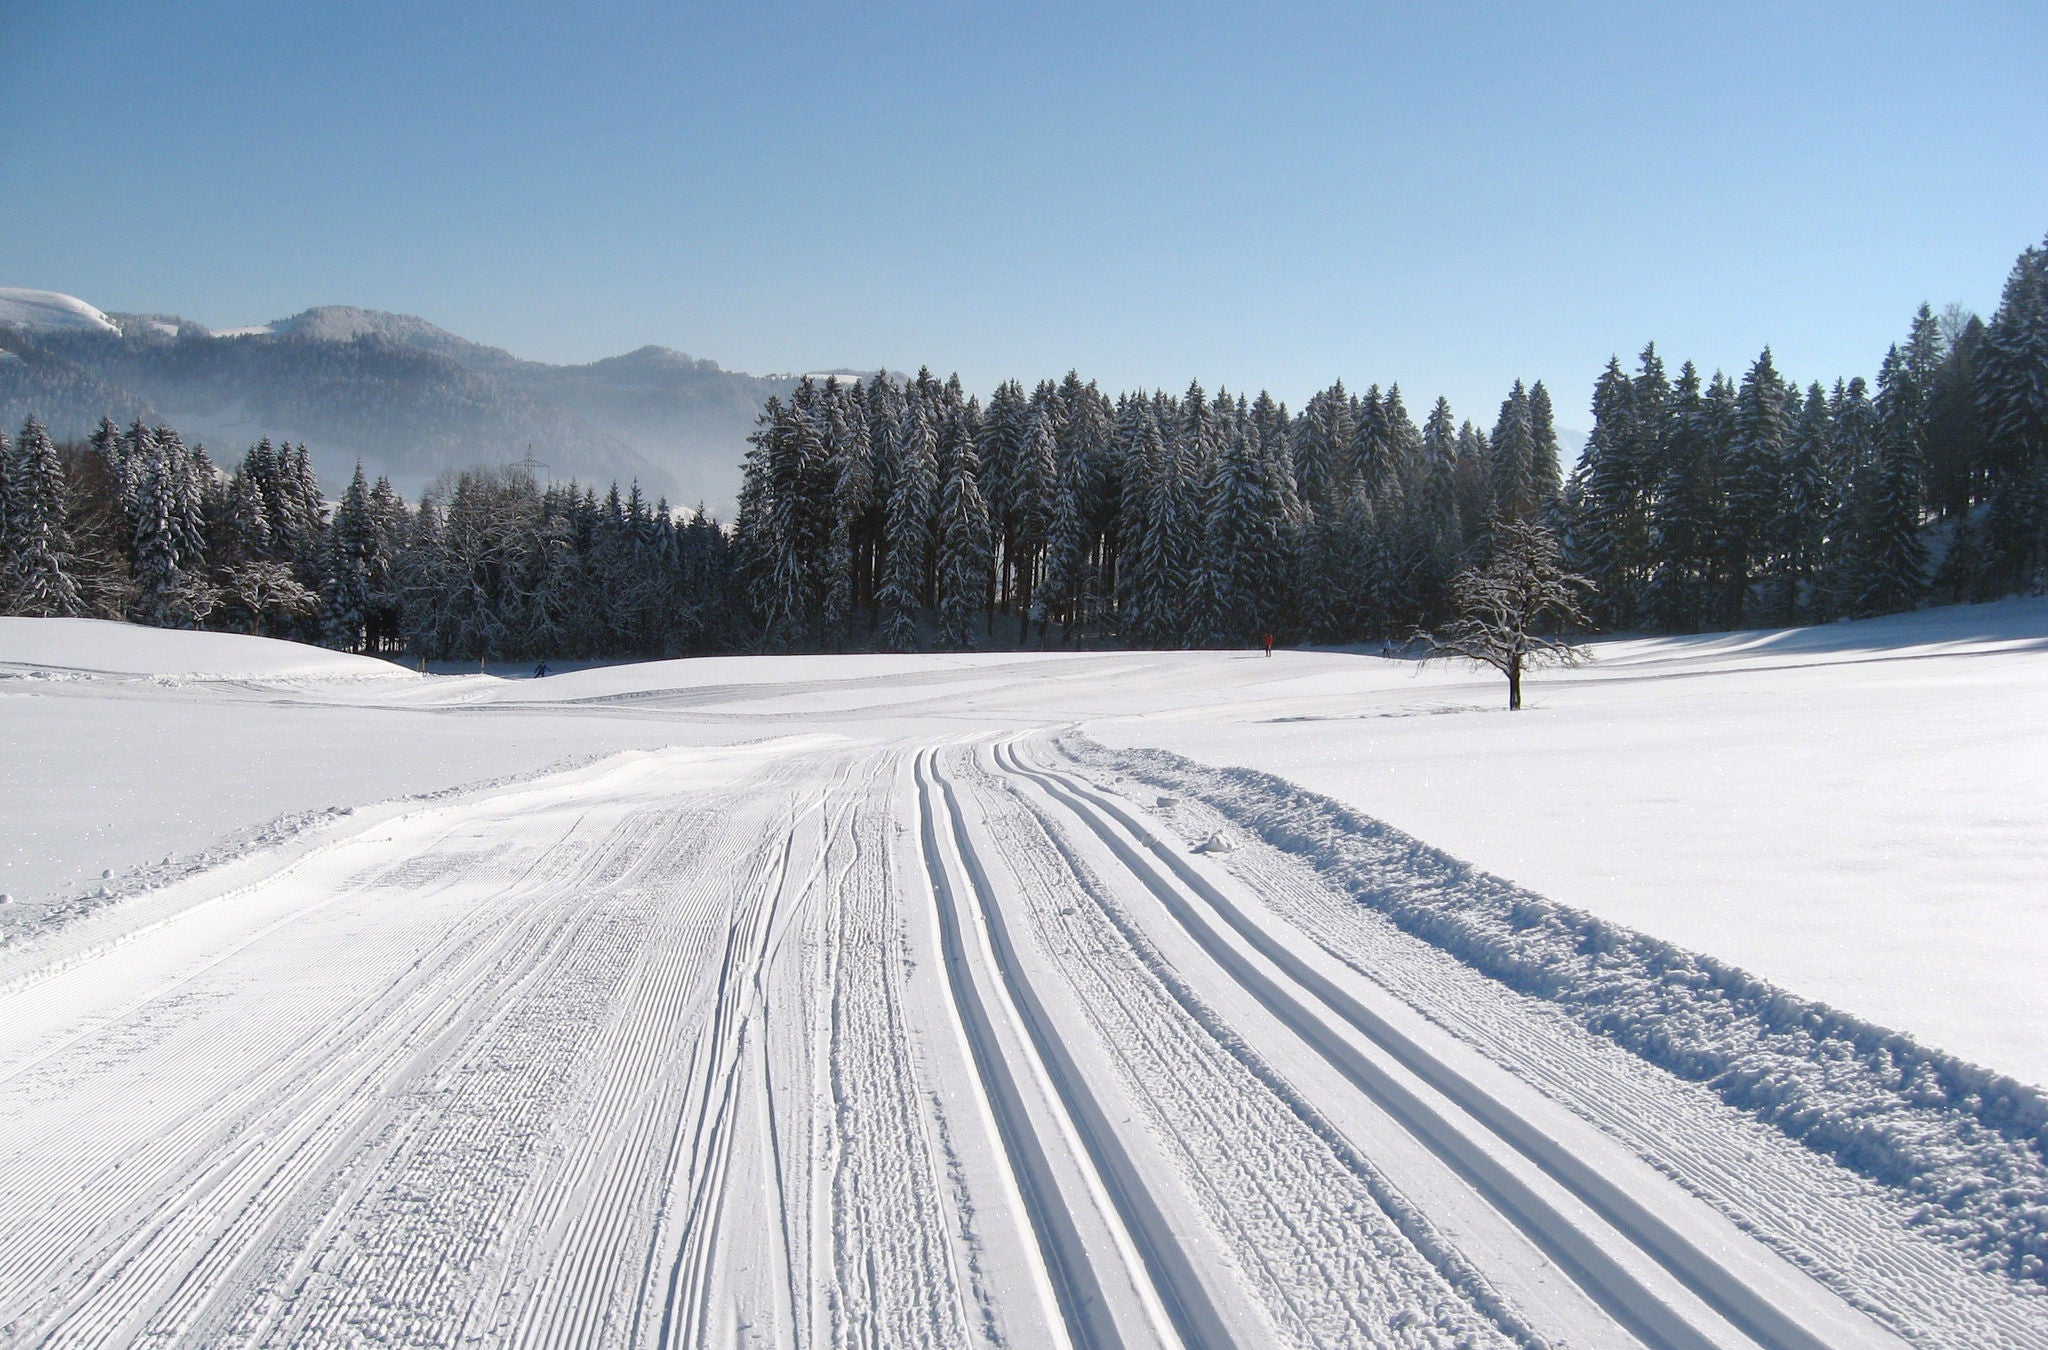
{"label": "clear blue sky above the mountains and treetops", "polygon": [[2048,231],[2048,6],[0,0],[0,285],[543,361],[1874,373]]}

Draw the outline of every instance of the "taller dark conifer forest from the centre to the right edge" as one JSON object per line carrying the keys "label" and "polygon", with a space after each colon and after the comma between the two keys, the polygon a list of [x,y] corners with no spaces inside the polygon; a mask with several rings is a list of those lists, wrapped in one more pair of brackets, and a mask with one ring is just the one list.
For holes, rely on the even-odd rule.
{"label": "taller dark conifer forest from the centre to the right edge", "polygon": [[1608,363],[1561,473],[1550,395],[1491,430],[1341,381],[1298,414],[1200,383],[1110,399],[1077,373],[987,406],[928,369],[803,381],[752,436],[735,555],[768,649],[1405,637],[1452,617],[1497,522],[1550,531],[1595,627],[1700,631],[1982,600],[2048,565],[2048,246],[1997,313],[1915,313],[1862,377],[1800,389]]}

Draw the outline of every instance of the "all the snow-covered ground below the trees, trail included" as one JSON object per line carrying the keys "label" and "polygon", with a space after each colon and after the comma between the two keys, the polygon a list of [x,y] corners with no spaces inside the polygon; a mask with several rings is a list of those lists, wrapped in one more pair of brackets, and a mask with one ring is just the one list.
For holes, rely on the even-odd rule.
{"label": "all the snow-covered ground below the trees, trail included", "polygon": [[2048,1346],[2048,604],[1599,658],[0,619],[0,1340]]}

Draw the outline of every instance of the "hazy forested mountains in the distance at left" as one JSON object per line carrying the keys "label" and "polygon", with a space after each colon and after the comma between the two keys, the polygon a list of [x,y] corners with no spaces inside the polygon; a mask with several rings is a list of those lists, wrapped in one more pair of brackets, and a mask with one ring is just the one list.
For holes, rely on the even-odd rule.
{"label": "hazy forested mountains in the distance at left", "polygon": [[637,479],[647,496],[731,518],[754,418],[793,387],[659,346],[575,367],[520,361],[352,305],[211,332],[0,291],[0,426],[33,412],[82,436],[100,416],[158,418],[223,461],[258,436],[305,440],[330,479],[360,457],[408,496],[442,471],[530,453],[557,479]]}

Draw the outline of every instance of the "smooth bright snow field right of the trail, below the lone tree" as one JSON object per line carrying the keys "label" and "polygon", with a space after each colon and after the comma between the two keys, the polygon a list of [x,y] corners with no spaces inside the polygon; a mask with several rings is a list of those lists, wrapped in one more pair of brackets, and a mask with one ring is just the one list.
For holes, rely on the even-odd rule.
{"label": "smooth bright snow field right of the trail, below the lone tree", "polygon": [[[2048,602],[1401,662],[1098,723],[1335,797],[1532,891],[2048,1084]],[[1282,692],[1284,690],[1284,692]]]}

